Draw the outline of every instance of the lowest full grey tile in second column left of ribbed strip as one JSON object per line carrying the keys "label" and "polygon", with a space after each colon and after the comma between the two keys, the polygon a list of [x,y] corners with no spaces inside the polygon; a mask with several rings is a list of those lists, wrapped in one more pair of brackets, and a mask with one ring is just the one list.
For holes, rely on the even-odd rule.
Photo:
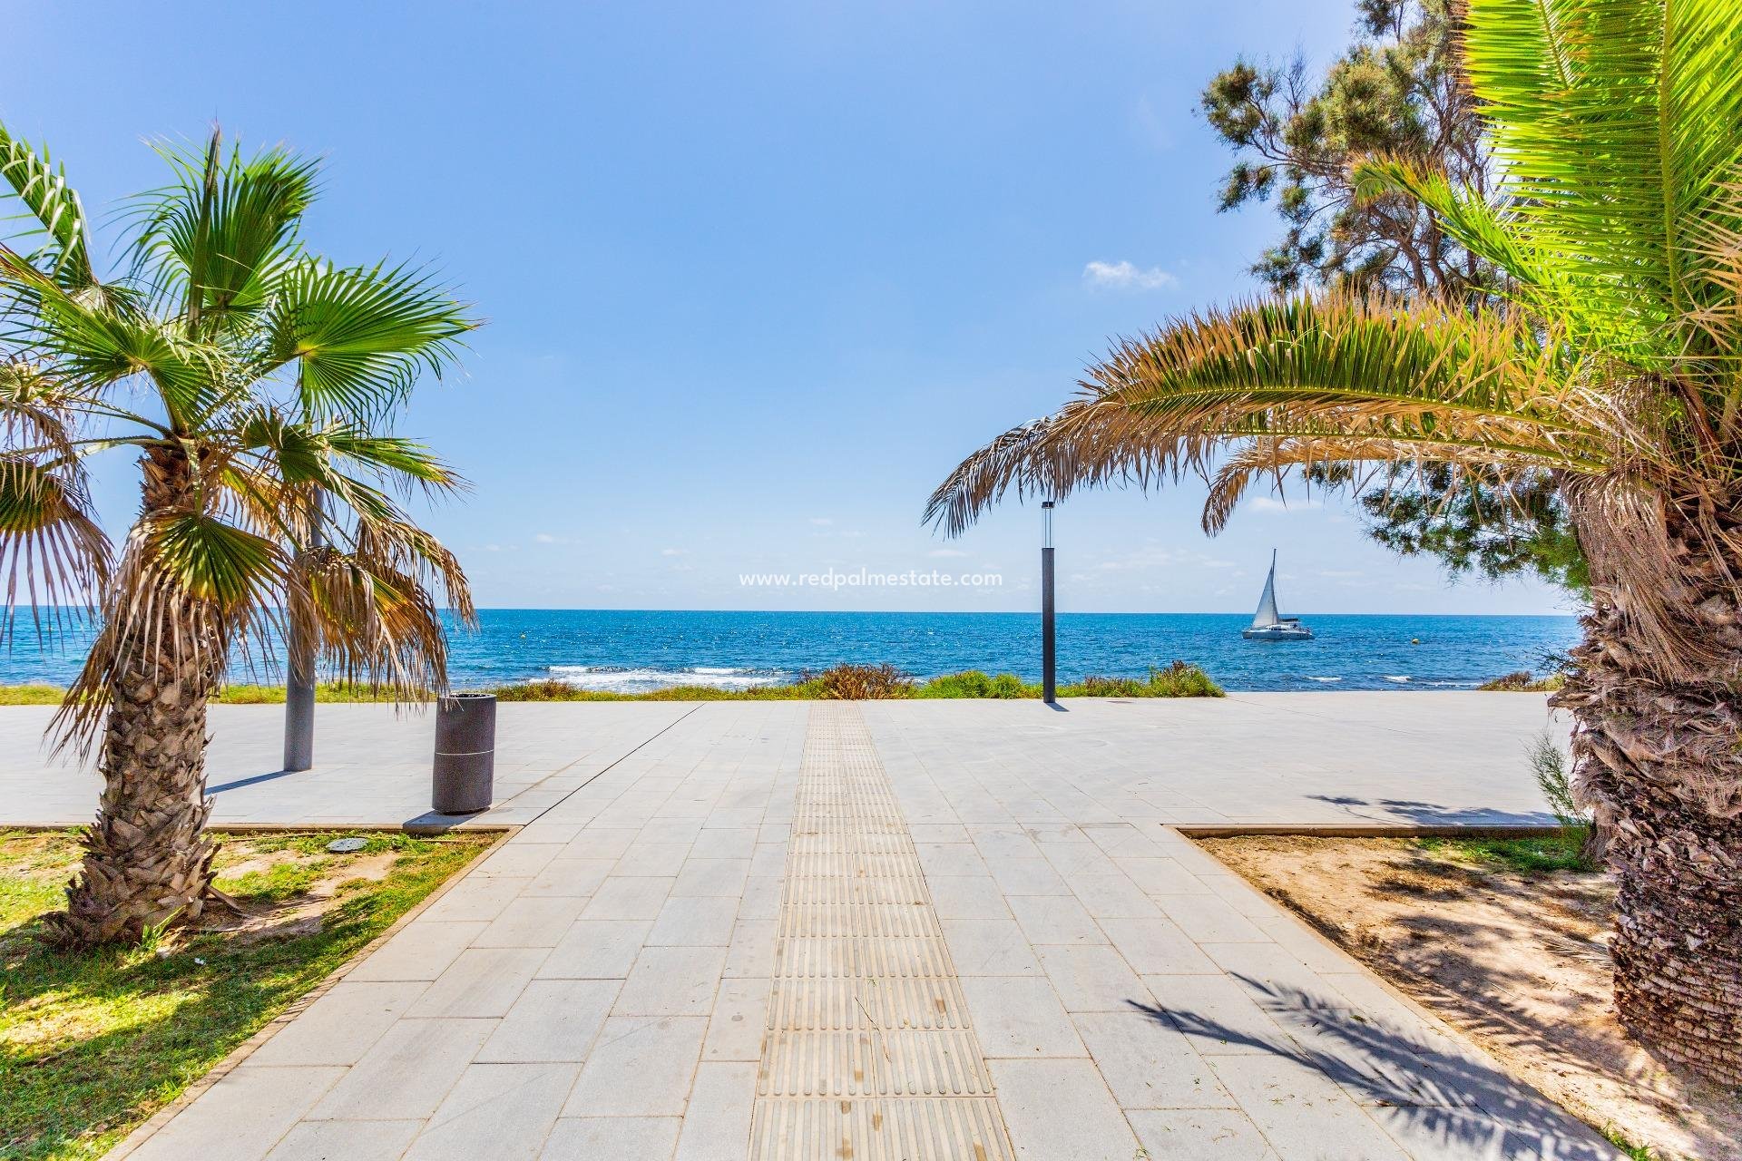
{"label": "lowest full grey tile in second column left of ribbed strip", "polygon": [[683,1116],[706,1032],[702,1017],[610,1017],[563,1116]]}

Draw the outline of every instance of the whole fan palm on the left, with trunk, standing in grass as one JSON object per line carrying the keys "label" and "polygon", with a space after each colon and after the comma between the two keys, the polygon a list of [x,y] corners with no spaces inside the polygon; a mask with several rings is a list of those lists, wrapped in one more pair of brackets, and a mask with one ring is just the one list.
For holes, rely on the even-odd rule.
{"label": "whole fan palm on the left, with trunk, standing in grass", "polygon": [[[206,703],[228,658],[282,634],[293,665],[411,698],[446,686],[434,592],[472,614],[458,560],[395,500],[463,482],[387,433],[476,325],[465,308],[420,270],[310,254],[312,160],[225,151],[216,131],[160,153],[171,178],[131,204],[127,261],[99,280],[64,171],[0,127],[31,226],[0,245],[0,628],[21,585],[37,618],[99,618],[51,728],[103,775],[51,917],[71,945],[138,940],[213,896]],[[105,451],[141,473],[118,557],[85,486]]]}

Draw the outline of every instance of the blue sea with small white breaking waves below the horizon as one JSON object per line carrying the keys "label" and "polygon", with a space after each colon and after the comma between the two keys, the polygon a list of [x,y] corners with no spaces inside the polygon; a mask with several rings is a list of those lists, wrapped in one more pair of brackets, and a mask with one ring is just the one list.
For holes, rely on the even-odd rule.
{"label": "blue sea with small white breaking waves below the horizon", "polygon": [[[1543,672],[1578,641],[1571,616],[1300,614],[1312,641],[1246,641],[1251,614],[1061,613],[1059,681],[1141,677],[1174,660],[1235,691],[1474,689],[1516,670]],[[19,613],[0,651],[0,684],[68,684],[91,642],[84,625]],[[261,656],[261,653],[268,656]],[[270,649],[254,679],[282,681]],[[709,613],[483,609],[476,632],[449,627],[456,689],[556,679],[582,689],[744,689],[841,661],[888,663],[915,677],[969,668],[1040,681],[1033,613]],[[247,667],[232,667],[247,681]]]}

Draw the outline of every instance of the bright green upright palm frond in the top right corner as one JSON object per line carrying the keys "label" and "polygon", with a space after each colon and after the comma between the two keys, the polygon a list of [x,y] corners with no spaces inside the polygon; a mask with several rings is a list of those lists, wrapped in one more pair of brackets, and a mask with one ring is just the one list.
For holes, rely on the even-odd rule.
{"label": "bright green upright palm frond in the top right corner", "polygon": [[1465,47],[1516,228],[1603,313],[1685,353],[1711,294],[1700,242],[1742,225],[1723,193],[1742,176],[1742,7],[1470,0]]}

